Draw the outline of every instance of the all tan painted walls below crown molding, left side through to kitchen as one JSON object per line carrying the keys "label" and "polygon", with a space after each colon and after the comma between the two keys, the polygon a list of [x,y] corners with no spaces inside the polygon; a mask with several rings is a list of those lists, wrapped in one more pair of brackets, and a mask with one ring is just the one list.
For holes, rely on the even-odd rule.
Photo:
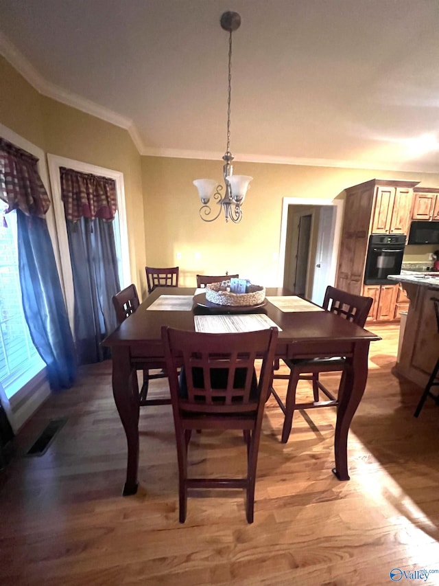
{"label": "all tan painted walls below crown molding, left side through to kitchen", "polygon": [[[421,181],[439,187],[439,174],[250,164],[235,173],[254,177],[244,219],[204,223],[193,179],[222,181],[222,161],[141,157],[122,128],[35,91],[0,57],[0,122],[47,153],[123,172],[132,278],[145,293],[145,264],[181,269],[181,284],[196,273],[239,272],[254,282],[278,284],[283,197],[333,199],[349,185],[374,177]],[[342,196],[342,195],[341,195]]]}

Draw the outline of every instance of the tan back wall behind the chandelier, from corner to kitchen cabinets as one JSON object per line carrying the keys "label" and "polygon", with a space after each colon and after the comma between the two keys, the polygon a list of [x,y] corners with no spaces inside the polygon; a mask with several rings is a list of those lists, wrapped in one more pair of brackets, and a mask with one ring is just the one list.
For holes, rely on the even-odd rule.
{"label": "tan back wall behind the chandelier, from corner to kitchen cabinets", "polygon": [[[283,197],[335,199],[368,179],[407,179],[439,185],[439,174],[250,164],[234,161],[235,173],[254,177],[240,224],[200,220],[193,179],[222,180],[222,161],[142,157],[147,264],[178,264],[181,284],[196,273],[239,273],[267,286],[278,282]],[[180,254],[180,258],[178,257]]]}

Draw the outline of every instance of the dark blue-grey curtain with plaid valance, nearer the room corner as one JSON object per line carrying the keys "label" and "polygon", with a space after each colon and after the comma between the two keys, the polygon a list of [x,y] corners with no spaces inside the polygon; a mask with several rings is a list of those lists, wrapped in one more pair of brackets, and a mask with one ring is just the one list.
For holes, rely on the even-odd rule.
{"label": "dark blue-grey curtain with plaid valance, nearer the room corner", "polygon": [[114,218],[116,182],[60,168],[75,293],[75,343],[80,364],[111,357],[102,341],[117,326],[112,296],[120,291]]}

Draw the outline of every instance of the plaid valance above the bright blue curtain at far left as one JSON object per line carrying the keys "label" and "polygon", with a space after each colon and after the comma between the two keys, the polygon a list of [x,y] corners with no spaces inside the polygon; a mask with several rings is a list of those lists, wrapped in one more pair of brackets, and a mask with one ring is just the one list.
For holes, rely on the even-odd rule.
{"label": "plaid valance above the bright blue curtain at far left", "polygon": [[50,199],[37,162],[34,155],[0,138],[0,198],[8,204],[6,213],[19,209],[26,216],[45,217]]}

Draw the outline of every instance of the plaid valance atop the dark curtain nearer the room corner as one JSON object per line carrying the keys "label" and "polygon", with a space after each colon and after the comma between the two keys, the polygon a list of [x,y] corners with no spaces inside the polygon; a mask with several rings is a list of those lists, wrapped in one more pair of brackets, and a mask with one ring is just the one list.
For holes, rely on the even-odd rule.
{"label": "plaid valance atop the dark curtain nearer the room corner", "polygon": [[73,222],[80,218],[111,221],[117,212],[116,182],[108,177],[60,168],[64,214]]}

